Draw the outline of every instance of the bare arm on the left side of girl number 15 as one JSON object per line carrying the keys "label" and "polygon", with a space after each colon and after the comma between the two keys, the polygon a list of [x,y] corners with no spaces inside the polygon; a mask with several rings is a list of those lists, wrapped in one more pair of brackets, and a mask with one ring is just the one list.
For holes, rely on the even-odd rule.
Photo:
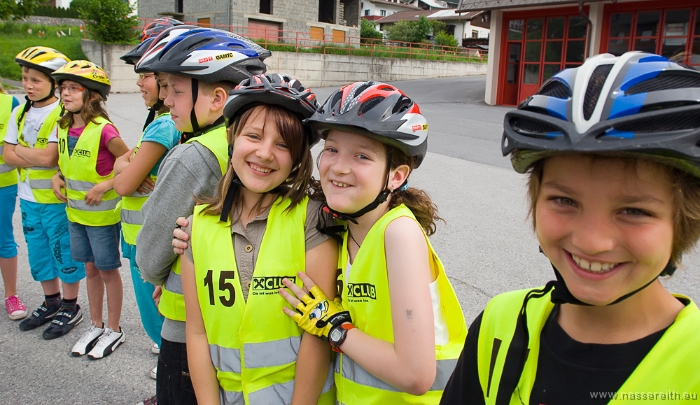
{"label": "bare arm on the left side of girl number 15", "polygon": [[194,392],[199,404],[219,403],[219,382],[209,354],[209,341],[204,329],[202,311],[197,299],[197,285],[194,264],[186,255],[180,256],[182,291],[185,295],[185,312],[187,314],[186,339],[187,361]]}

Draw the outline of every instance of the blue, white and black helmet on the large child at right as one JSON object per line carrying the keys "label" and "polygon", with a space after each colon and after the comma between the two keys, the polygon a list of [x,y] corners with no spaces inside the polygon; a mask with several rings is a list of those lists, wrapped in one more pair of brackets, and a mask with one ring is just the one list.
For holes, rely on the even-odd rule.
{"label": "blue, white and black helmet on the large child at right", "polygon": [[700,177],[700,72],[648,53],[597,55],[506,114],[513,168],[562,152],[643,156]]}

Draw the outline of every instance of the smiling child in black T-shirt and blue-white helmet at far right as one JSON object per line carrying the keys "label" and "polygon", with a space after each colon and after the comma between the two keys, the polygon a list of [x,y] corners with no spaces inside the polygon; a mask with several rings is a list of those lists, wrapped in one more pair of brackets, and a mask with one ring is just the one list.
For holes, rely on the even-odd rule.
{"label": "smiling child in black T-shirt and blue-white helmet at far right", "polygon": [[697,402],[700,311],[659,276],[700,238],[698,100],[700,72],[629,52],[506,114],[556,280],[489,302],[443,404]]}

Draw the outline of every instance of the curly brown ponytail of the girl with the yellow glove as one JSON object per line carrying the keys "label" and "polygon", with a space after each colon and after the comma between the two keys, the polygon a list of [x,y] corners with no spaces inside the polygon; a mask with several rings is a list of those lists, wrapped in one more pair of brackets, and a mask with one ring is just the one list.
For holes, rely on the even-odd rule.
{"label": "curly brown ponytail of the girl with the yellow glove", "polygon": [[[407,165],[409,168],[415,166],[415,159],[412,156],[408,156],[394,146],[386,145],[386,152],[387,154],[391,153],[391,164],[389,166],[392,170],[401,165]],[[408,181],[409,176],[406,177],[406,181]],[[434,234],[437,230],[437,221],[445,222],[438,215],[435,203],[430,199],[428,193],[423,190],[414,187],[409,187],[403,191],[400,188],[394,190],[389,200],[389,209],[398,207],[401,204],[406,205],[413,212],[416,220],[428,236]]]}

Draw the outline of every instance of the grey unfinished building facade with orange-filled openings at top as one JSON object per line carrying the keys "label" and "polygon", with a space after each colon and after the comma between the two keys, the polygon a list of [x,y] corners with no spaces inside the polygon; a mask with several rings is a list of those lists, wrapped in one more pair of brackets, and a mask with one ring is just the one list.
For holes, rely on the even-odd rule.
{"label": "grey unfinished building facade with orange-filled openings at top", "polygon": [[244,34],[271,40],[289,35],[282,31],[307,32],[319,40],[324,35],[360,36],[360,0],[138,0],[138,14],[168,15],[201,26],[247,27]]}

